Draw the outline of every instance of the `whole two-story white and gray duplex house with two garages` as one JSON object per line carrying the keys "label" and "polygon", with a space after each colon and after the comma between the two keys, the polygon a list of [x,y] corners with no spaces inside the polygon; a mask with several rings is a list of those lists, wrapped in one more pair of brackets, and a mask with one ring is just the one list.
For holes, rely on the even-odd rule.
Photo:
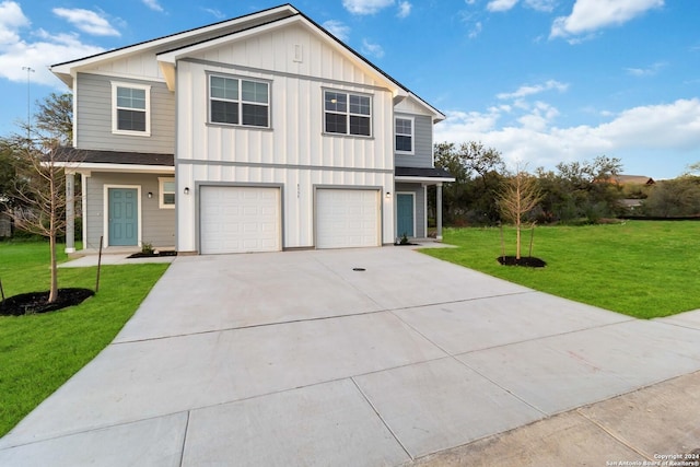
{"label": "whole two-story white and gray duplex house with two garages", "polygon": [[425,237],[430,185],[441,238],[445,116],[289,4],[51,71],[73,91],[85,249]]}

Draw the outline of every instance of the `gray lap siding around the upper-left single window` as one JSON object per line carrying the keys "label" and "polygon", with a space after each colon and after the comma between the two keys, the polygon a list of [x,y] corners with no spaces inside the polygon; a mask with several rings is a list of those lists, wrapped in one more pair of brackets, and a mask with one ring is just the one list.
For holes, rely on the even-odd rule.
{"label": "gray lap siding around the upper-left single window", "polygon": [[[112,133],[112,81],[151,85],[151,136]],[[165,83],[78,73],[77,148],[172,154],[175,95]]]}

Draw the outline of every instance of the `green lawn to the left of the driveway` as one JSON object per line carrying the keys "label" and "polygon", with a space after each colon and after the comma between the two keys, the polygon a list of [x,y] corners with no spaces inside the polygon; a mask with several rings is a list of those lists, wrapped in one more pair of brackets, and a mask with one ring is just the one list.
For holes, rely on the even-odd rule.
{"label": "green lawn to the left of the driveway", "polygon": [[[48,264],[47,243],[0,243],[5,296],[48,290]],[[114,339],[167,266],[103,266],[100,292],[78,306],[0,316],[0,436]],[[59,269],[59,288],[94,290],[96,270]]]}

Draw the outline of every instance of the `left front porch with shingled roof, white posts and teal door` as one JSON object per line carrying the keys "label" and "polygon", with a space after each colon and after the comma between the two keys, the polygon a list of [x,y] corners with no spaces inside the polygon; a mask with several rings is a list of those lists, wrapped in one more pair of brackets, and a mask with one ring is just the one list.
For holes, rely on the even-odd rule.
{"label": "left front porch with shingled roof, white posts and teal door", "polygon": [[[175,249],[175,167],[172,154],[65,148],[66,253],[75,253],[82,213],[83,253],[138,253],[145,244]],[[80,177],[82,196],[75,195]],[[78,202],[80,202],[79,206]]]}

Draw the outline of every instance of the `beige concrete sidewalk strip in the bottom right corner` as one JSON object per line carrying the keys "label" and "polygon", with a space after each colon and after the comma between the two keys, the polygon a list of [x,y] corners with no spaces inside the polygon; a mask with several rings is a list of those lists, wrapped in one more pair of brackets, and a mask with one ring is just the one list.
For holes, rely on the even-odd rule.
{"label": "beige concrete sidewalk strip in the bottom right corner", "polygon": [[674,460],[678,466],[698,467],[699,415],[697,372],[405,466],[669,466]]}

